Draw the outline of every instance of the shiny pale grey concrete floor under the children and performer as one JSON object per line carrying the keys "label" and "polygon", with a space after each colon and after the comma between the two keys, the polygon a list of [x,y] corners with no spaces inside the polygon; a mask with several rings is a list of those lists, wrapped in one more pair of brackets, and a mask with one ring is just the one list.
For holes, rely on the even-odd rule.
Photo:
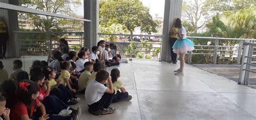
{"label": "shiny pale grey concrete floor under the children and performer", "polygon": [[[24,59],[28,70],[34,59],[46,57]],[[9,73],[12,61],[3,61]],[[93,116],[87,112],[84,95],[78,95],[81,119],[256,119],[256,89],[191,65],[185,66],[184,76],[175,76],[178,67],[155,59],[120,64],[120,80],[133,99],[111,104],[117,109],[112,115]]]}

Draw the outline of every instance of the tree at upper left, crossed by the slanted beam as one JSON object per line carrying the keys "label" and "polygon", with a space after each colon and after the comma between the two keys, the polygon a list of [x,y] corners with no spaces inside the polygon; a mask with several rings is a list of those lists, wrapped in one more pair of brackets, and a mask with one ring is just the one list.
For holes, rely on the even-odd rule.
{"label": "tree at upper left, crossed by the slanted beam", "polygon": [[[32,1],[32,0],[21,0],[19,4],[24,7],[29,7],[31,9],[42,10],[45,12],[64,14],[68,16],[75,16],[75,12],[72,8],[76,8],[80,5],[80,0],[40,0],[40,1]],[[38,14],[20,14],[21,16],[25,15],[26,18],[32,19],[33,24],[38,28],[42,29],[44,32],[49,32],[52,27],[58,27],[60,23],[63,21],[67,21],[62,18],[55,18],[49,16],[41,16]]]}

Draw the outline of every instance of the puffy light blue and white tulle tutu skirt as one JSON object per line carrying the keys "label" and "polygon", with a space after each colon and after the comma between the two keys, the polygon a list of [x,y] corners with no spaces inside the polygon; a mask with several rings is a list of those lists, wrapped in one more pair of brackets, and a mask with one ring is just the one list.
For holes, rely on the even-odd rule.
{"label": "puffy light blue and white tulle tutu skirt", "polygon": [[187,53],[187,51],[194,50],[194,42],[190,39],[182,39],[177,40],[173,46],[173,53],[181,54],[181,53]]}

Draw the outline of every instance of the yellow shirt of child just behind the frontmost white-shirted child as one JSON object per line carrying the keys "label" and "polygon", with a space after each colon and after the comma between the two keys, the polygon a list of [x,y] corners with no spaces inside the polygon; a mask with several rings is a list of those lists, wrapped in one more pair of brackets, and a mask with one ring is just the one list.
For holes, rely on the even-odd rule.
{"label": "yellow shirt of child just behind the frontmost white-shirted child", "polygon": [[83,91],[87,87],[87,81],[89,80],[91,76],[90,71],[85,70],[79,77],[78,80],[78,88],[79,91]]}

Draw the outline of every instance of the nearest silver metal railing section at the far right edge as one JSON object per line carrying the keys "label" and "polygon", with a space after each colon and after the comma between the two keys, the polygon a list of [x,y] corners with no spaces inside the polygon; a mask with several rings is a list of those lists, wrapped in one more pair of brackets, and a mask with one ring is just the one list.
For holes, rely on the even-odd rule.
{"label": "nearest silver metal railing section at the far right edge", "polygon": [[[256,83],[256,78],[250,78],[250,73],[256,73],[256,71],[253,71],[255,69],[256,64],[253,62],[255,60],[255,53],[254,46],[256,46],[256,43],[253,42],[245,42],[244,43],[244,54],[242,56],[242,63],[240,68],[240,75],[239,75],[239,81],[238,84],[240,85],[248,85],[251,83]],[[254,67],[254,68],[253,68]],[[249,81],[251,79],[251,81]]]}

